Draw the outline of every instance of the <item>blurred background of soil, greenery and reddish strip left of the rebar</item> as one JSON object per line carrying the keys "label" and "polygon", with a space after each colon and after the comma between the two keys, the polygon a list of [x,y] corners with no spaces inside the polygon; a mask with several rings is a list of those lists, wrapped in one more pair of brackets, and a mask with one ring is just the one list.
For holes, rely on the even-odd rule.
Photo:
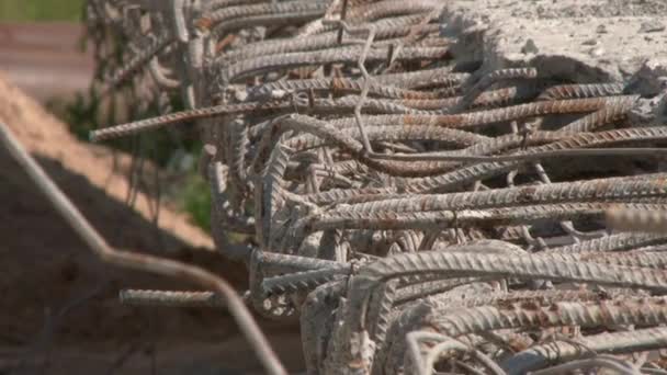
{"label": "blurred background of soil, greenery and reddish strip left of the rebar", "polygon": [[[186,126],[92,145],[90,129],[145,118],[152,103],[103,72],[84,0],[0,0],[0,122],[113,246],[204,264],[242,291],[245,266],[215,253],[199,135]],[[88,36],[87,36],[88,35]],[[0,150],[0,374],[260,373],[224,310],[123,306],[121,288],[188,288],[110,269]],[[302,370],[297,326],[260,321]]]}

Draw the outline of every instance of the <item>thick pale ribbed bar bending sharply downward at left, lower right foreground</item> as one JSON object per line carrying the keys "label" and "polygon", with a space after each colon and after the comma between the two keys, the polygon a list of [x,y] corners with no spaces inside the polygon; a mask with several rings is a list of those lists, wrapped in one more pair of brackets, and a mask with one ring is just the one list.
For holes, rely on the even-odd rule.
{"label": "thick pale ribbed bar bending sharply downward at left, lower right foreground", "polygon": [[[486,247],[488,248],[488,247]],[[638,268],[619,268],[595,263],[578,262],[576,259],[561,257],[516,257],[484,253],[485,247],[478,253],[459,252],[419,252],[399,254],[382,259],[368,266],[361,268],[351,277],[348,299],[350,306],[341,328],[349,332],[366,331],[365,311],[373,291],[388,280],[417,273],[442,274],[443,279],[455,276],[496,276],[498,279],[544,279],[562,282],[591,282],[600,285],[620,287],[644,287],[658,291],[667,289],[667,273]],[[472,332],[470,332],[472,333]],[[462,333],[464,334],[464,333]],[[449,334],[456,337],[460,334]],[[338,355],[350,361],[364,363],[370,368],[372,363],[354,356],[354,353],[342,352]],[[359,354],[359,353],[357,353]]]}

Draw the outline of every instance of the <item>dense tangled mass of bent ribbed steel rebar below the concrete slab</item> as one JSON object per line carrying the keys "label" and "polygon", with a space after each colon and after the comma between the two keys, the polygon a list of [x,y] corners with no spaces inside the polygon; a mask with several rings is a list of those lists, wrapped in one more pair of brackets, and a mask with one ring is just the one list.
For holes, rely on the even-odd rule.
{"label": "dense tangled mass of bent ribbed steel rebar below the concrete slab", "polygon": [[299,317],[308,373],[664,374],[662,98],[463,61],[445,5],[89,0],[124,41],[106,91],[186,105],[91,138],[196,127],[216,246]]}

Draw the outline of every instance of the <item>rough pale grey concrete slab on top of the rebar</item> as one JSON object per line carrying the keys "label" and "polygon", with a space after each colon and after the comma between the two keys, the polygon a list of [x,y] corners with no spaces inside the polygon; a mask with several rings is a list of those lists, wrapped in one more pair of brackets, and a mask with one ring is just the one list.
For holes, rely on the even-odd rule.
{"label": "rough pale grey concrete slab on top of the rebar", "polygon": [[632,81],[645,95],[667,76],[665,0],[452,0],[442,22],[461,39],[454,56],[488,70],[530,65],[573,82]]}

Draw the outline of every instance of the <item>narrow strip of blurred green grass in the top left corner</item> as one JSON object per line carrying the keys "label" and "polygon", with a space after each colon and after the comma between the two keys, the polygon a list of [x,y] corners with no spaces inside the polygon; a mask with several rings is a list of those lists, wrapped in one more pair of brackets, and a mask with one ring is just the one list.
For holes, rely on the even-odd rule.
{"label": "narrow strip of blurred green grass in the top left corner", "polygon": [[0,21],[80,21],[86,0],[0,0]]}

